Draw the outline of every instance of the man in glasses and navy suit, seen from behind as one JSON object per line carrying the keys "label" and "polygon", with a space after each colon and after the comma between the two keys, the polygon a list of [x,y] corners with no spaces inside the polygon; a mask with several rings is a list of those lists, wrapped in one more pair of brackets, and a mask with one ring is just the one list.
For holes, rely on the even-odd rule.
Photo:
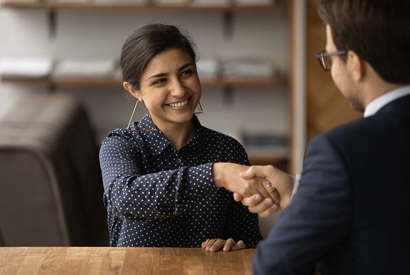
{"label": "man in glasses and navy suit, seen from behind", "polygon": [[[253,273],[410,274],[410,1],[323,0],[319,15],[317,58],[364,118],[310,142],[297,191],[272,166],[243,175],[265,177],[287,206]],[[260,199],[242,203],[274,212]]]}

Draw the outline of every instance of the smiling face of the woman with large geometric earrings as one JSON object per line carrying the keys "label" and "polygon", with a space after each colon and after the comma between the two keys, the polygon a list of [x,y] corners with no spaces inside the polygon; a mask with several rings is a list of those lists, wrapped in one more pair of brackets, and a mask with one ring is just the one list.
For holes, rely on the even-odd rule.
{"label": "smiling face of the woman with large geometric earrings", "polygon": [[161,129],[190,122],[201,94],[194,61],[186,52],[172,48],[151,59],[141,76],[140,91],[133,96],[144,101]]}

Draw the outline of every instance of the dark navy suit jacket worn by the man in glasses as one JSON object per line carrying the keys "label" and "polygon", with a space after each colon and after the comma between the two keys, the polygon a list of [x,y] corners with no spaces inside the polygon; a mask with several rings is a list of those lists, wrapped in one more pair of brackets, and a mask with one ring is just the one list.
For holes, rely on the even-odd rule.
{"label": "dark navy suit jacket worn by the man in glasses", "polygon": [[310,142],[253,274],[410,274],[410,96]]}

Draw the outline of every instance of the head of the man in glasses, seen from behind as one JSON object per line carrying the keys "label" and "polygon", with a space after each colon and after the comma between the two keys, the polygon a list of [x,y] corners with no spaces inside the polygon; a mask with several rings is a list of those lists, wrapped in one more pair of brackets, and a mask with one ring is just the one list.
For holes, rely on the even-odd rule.
{"label": "head of the man in glasses, seen from behind", "polygon": [[346,52],[330,57],[332,78],[354,109],[363,111],[372,99],[364,89],[369,81],[410,84],[409,0],[323,0],[318,12],[326,52]]}

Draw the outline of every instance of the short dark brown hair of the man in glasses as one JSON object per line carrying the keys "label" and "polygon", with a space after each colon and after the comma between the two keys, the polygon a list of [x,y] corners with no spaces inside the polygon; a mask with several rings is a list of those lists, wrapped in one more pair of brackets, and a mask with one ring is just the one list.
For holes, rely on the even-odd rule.
{"label": "short dark brown hair of the man in glasses", "polygon": [[338,50],[352,50],[389,83],[410,83],[409,0],[323,0]]}

